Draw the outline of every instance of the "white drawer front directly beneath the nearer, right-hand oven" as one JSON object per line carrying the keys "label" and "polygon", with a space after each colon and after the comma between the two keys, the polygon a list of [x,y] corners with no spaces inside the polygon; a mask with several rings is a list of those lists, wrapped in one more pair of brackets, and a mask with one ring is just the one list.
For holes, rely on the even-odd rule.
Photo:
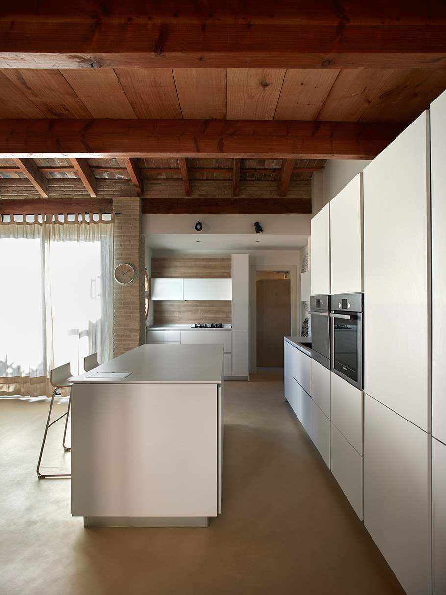
{"label": "white drawer front directly beneath the nearer, right-hand oven", "polygon": [[357,452],[363,454],[364,393],[331,372],[331,421]]}

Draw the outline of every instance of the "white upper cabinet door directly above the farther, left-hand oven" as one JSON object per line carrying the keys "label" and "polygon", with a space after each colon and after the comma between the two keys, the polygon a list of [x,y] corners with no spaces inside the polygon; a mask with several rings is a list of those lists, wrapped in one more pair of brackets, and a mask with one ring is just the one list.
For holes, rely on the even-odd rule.
{"label": "white upper cabinet door directly above the farther, left-hand oven", "polygon": [[330,292],[330,205],[311,220],[311,293]]}

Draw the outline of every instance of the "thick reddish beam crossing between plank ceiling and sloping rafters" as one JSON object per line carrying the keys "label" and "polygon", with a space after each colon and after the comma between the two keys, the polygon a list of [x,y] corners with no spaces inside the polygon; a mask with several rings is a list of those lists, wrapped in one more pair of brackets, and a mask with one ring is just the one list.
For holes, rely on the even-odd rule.
{"label": "thick reddish beam crossing between plank ceiling and sloping rafters", "polygon": [[0,158],[373,159],[405,127],[297,120],[0,119]]}

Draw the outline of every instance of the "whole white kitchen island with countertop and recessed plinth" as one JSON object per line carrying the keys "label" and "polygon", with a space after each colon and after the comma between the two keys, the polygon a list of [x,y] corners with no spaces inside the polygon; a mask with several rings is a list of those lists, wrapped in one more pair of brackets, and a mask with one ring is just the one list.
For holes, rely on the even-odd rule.
{"label": "whole white kitchen island with countertop and recessed plinth", "polygon": [[141,345],[75,378],[71,514],[207,527],[221,510],[222,367],[221,345]]}

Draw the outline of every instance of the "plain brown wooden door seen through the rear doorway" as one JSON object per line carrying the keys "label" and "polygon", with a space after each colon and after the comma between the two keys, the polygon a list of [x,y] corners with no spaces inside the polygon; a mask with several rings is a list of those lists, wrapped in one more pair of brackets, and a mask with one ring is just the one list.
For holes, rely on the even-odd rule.
{"label": "plain brown wooden door seen through the rear doorway", "polygon": [[284,336],[291,334],[289,279],[257,281],[257,366],[284,365]]}

